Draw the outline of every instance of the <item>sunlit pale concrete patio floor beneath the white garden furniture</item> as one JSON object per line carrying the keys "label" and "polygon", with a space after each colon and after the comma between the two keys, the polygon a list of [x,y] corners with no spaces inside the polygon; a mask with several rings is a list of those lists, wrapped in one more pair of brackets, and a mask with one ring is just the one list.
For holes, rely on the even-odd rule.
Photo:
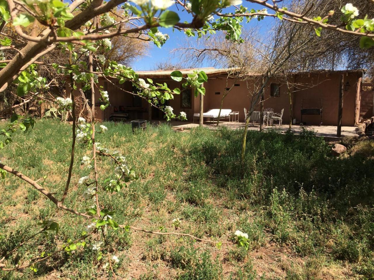
{"label": "sunlit pale concrete patio floor beneath the white garden furniture", "polygon": [[[172,127],[176,130],[185,130],[185,129],[191,129],[194,127],[198,127],[198,123],[192,123],[192,122],[181,122],[181,121],[171,121],[170,124]],[[220,126],[229,127],[231,129],[237,129],[237,128],[243,128],[245,125],[244,122],[220,122]],[[216,124],[204,122],[204,127],[207,127],[209,129],[217,129]],[[341,137],[336,136],[336,130],[337,127],[330,126],[330,125],[306,125],[304,126],[307,130],[314,130],[316,133],[316,136],[319,137],[325,137],[328,140],[338,140],[343,137],[354,137],[358,136],[356,133],[356,127],[341,127]],[[264,126],[265,130],[277,130],[282,133],[285,133],[288,130],[288,124],[281,125],[280,127],[278,125],[273,125],[272,127]],[[255,124],[254,126],[249,125],[248,130],[260,130],[260,126],[258,124]],[[294,133],[300,133],[302,131],[300,125],[292,125],[291,131]]]}

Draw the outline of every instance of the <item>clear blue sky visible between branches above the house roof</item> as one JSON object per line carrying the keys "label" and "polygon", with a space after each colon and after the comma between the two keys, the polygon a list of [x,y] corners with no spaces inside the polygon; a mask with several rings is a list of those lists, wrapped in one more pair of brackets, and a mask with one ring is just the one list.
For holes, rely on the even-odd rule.
{"label": "clear blue sky visible between branches above the house roof", "polygon": [[[263,6],[260,6],[258,4],[247,4],[247,7],[249,9],[263,9]],[[175,12],[178,12],[177,7],[174,5],[169,8],[169,10],[174,10]],[[234,9],[226,9],[224,12],[233,12]],[[178,12],[178,15],[181,18],[181,22],[188,21],[190,22],[192,17],[190,14],[185,12]],[[217,18],[217,16],[215,16]],[[266,18],[263,21],[260,22],[261,31],[265,32],[269,25],[272,24],[274,19]],[[253,28],[255,24],[257,23],[257,20],[253,19],[248,24],[244,23],[245,28]],[[171,28],[160,28],[160,31],[162,33],[166,33],[170,36],[169,40],[166,41],[166,43],[159,49],[156,45],[153,43],[149,44],[148,49],[148,55],[144,57],[139,57],[136,61],[132,63],[132,67],[136,71],[142,71],[142,70],[151,70],[154,69],[159,62],[169,62],[169,63],[175,63],[177,64],[181,58],[171,53],[174,49],[183,46],[183,44],[186,43],[186,40],[191,40],[191,43],[195,42],[196,39],[191,37],[187,39],[187,36],[184,35],[183,32],[175,30],[174,33],[172,32]],[[205,40],[204,38],[200,40]],[[183,58],[182,58],[183,60]],[[204,63],[202,65],[199,65],[200,67],[206,67],[206,66],[212,66],[209,65],[209,63]]]}

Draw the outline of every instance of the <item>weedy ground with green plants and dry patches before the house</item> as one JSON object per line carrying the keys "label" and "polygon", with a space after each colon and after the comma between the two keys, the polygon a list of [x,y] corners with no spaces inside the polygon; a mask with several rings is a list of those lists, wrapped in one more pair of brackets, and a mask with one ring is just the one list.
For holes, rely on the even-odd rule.
{"label": "weedy ground with green plants and dry patches before the house", "polygon": [[[190,233],[230,241],[235,230],[248,233],[246,251],[180,236],[107,229],[120,262],[117,279],[249,280],[374,279],[374,141],[351,141],[336,158],[331,146],[313,133],[301,136],[248,132],[247,153],[239,161],[241,130],[206,129],[190,133],[168,125],[132,134],[127,124],[108,122],[102,146],[119,150],[140,179],[119,193],[101,192],[102,206],[116,209],[120,224],[148,230]],[[16,134],[0,160],[61,197],[70,159],[71,127],[38,121]],[[80,166],[86,149],[77,145],[66,205],[84,211],[92,204],[78,185],[88,171]],[[113,173],[99,159],[99,184]],[[43,179],[44,176],[47,176]],[[40,230],[37,222],[58,221],[57,235],[39,234],[10,255],[5,264],[25,264],[77,239],[89,221],[62,210],[19,178],[0,181],[0,256]],[[172,225],[180,218],[178,229]],[[86,249],[59,253],[36,265],[37,272],[0,272],[1,279],[113,279]],[[105,253],[105,251],[104,251]]]}

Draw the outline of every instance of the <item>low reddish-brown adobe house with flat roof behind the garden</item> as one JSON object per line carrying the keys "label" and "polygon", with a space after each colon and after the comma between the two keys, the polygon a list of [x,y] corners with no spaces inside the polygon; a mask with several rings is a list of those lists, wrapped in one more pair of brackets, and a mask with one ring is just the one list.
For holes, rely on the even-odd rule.
{"label": "low reddish-brown adobe house with flat roof behind the garden", "polygon": [[[226,69],[200,68],[181,69],[184,76],[194,70],[205,71],[208,82],[204,83],[206,94],[203,97],[204,112],[209,109],[220,108],[221,98],[225,88],[234,87],[226,96],[223,103],[224,109],[239,112],[239,121],[243,122],[244,108],[249,109],[251,94],[258,87],[261,75],[249,74],[248,78],[236,80],[228,78]],[[151,78],[154,83],[166,83],[170,89],[182,88],[181,83],[170,78],[172,70],[139,71],[139,78]],[[296,123],[301,121],[301,108],[322,108],[322,125],[337,125],[338,102],[341,75],[344,75],[343,93],[343,126],[355,126],[359,122],[361,108],[361,80],[363,70],[342,71],[309,71],[292,72],[285,77],[272,78],[264,89],[264,108],[272,108],[274,112],[283,113],[283,124],[288,124],[290,119],[290,94],[293,109],[293,119]],[[99,120],[109,120],[113,113],[122,111],[132,119],[162,120],[163,113],[157,108],[150,108],[149,103],[128,92],[135,92],[131,83],[119,84],[116,79],[108,82],[99,77],[99,85],[107,90],[110,97],[110,106],[103,112],[99,109],[99,92],[96,92],[96,114]],[[125,91],[120,90],[122,88]],[[69,93],[69,85],[67,85]],[[79,95],[79,93],[75,93]],[[89,94],[88,94],[89,99]],[[174,94],[174,99],[168,100],[165,105],[172,106],[174,113],[178,115],[181,111],[187,113],[188,121],[192,121],[193,114],[200,112],[200,97],[195,98],[191,90],[185,90],[180,95]],[[256,105],[260,111],[260,106]],[[307,125],[319,125],[321,115],[303,115],[303,122]]]}

